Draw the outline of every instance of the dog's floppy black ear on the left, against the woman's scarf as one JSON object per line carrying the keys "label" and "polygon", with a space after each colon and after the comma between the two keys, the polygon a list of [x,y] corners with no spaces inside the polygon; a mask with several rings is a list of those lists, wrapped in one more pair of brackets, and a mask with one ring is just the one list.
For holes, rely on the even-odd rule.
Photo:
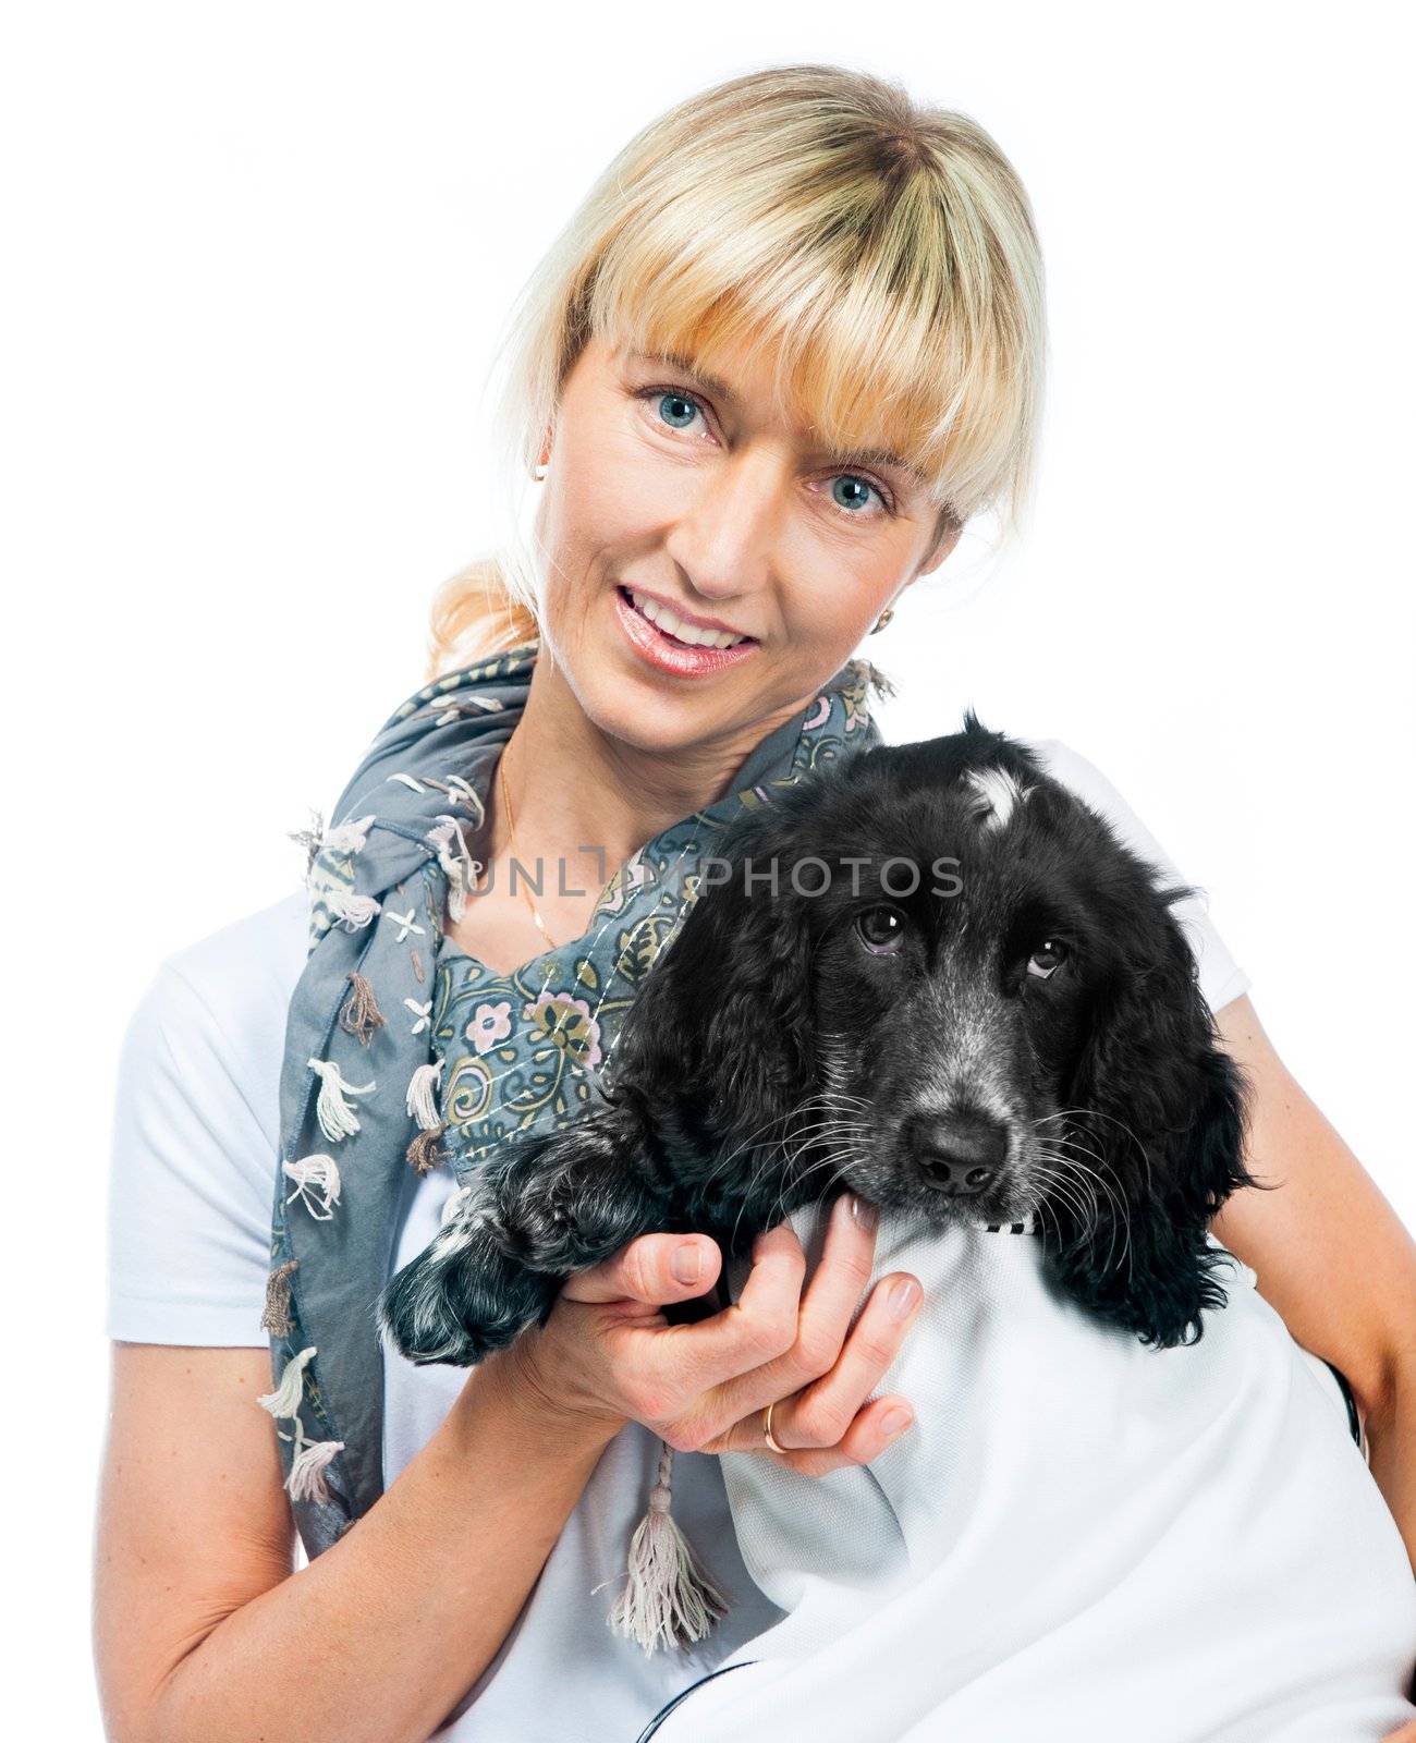
{"label": "dog's floppy black ear on the left, against the woman's scarf", "polygon": [[[753,812],[717,849],[678,936],[621,1034],[623,1075],[769,1143],[813,1082],[809,898],[792,889],[802,852],[790,816]],[[771,882],[771,878],[776,882]],[[802,887],[811,889],[809,872]]]}

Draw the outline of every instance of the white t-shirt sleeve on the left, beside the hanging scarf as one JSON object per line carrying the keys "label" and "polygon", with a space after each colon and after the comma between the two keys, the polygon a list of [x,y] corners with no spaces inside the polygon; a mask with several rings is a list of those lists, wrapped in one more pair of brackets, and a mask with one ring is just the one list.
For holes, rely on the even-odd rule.
{"label": "white t-shirt sleeve on the left, beside the hanging scarf", "polygon": [[108,1173],[112,1339],[267,1342],[293,919],[281,905],[169,957],[129,1018]]}

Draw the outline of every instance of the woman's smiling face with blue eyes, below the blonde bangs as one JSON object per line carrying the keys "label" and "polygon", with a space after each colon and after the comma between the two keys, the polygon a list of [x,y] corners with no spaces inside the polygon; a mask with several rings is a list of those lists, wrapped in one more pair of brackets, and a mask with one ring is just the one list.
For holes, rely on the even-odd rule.
{"label": "woman's smiling face with blue eyes, below the blonde bangs", "polygon": [[[769,383],[760,356],[706,382],[598,340],[567,376],[535,519],[544,633],[586,715],[638,748],[746,755],[957,539],[921,478],[827,453]],[[682,648],[630,594],[748,641]]]}

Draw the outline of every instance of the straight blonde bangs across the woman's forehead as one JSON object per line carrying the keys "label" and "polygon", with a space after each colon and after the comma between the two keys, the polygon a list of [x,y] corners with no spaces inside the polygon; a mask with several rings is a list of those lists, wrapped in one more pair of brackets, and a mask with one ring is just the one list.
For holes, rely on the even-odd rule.
{"label": "straight blonde bangs across the woman's forehead", "polygon": [[785,420],[842,455],[893,457],[964,521],[1017,488],[1036,383],[1018,368],[1031,335],[996,329],[987,239],[961,246],[935,195],[916,169],[903,188],[861,187],[844,216],[835,193],[832,223],[813,204],[786,228],[779,209],[643,214],[600,260],[584,331],[706,373],[750,349]]}

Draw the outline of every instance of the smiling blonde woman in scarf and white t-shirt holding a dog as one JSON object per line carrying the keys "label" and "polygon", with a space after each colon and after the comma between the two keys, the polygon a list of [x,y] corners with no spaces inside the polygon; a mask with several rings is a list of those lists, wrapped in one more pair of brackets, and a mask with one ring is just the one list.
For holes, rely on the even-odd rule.
{"label": "smiling blonde woman in scarf and white t-shirt holding a dog", "polygon": [[[1027,199],[963,117],[921,112],[865,75],[771,68],[631,141],[542,265],[516,333],[500,434],[523,472],[535,467],[537,553],[511,546],[502,566],[450,587],[434,675],[485,676],[469,662],[513,650],[525,694],[511,732],[488,741],[499,755],[466,791],[446,783],[434,798],[459,824],[439,844],[446,899],[424,913],[401,873],[366,894],[347,868],[375,802],[342,804],[352,833],[317,844],[309,962],[300,894],[164,964],[129,1034],[98,1546],[98,1659],[119,1740],[389,1743],[453,1715],[452,1736],[628,1743],[778,1616],[736,1553],[717,1459],[682,1459],[673,1511],[727,1614],[654,1656],[605,1628],[609,1600],[589,1586],[623,1565],[661,1438],[823,1475],[868,1464],[910,1429],[907,1396],[872,1394],[921,1288],[886,1274],[853,1325],[875,1232],[844,1203],[809,1276],[783,1225],[757,1243],[739,1304],[698,1323],[668,1325],[661,1309],[711,1290],[722,1255],[673,1236],[575,1278],[544,1328],[471,1373],[387,1360],[371,1375],[359,1328],[345,1335],[342,1321],[366,1326],[387,1272],[436,1234],[453,1187],[432,1166],[438,1143],[504,1129],[478,1131],[487,1105],[474,1117],[459,1103],[467,1072],[504,1112],[513,1084],[525,1091],[516,1046],[548,1000],[558,1007],[541,1039],[562,1058],[567,1035],[579,1048],[579,1075],[556,1089],[579,1093],[598,1061],[607,1013],[541,971],[577,960],[600,917],[635,899],[654,868],[647,845],[736,802],[748,776],[799,767],[818,701],[844,737],[863,706],[837,682],[851,652],[907,608],[909,586],[973,514],[1024,504],[1043,359]],[[410,699],[380,743],[412,743],[399,722],[431,730],[443,695],[457,715],[459,683]],[[1050,755],[1147,840],[1095,770],[1060,746]],[[361,781],[377,783],[380,816],[427,791],[387,758],[347,797]],[[546,868],[539,891],[513,884],[513,861]],[[1182,919],[1222,1041],[1256,1088],[1250,1166],[1282,1180],[1228,1204],[1215,1232],[1257,1269],[1294,1337],[1348,1377],[1372,1475],[1416,1553],[1416,1251],[1275,1056],[1208,920],[1193,906]],[[314,1084],[307,1067],[330,1060],[281,1051],[288,1011],[303,1034],[310,974],[356,936],[396,948],[412,980],[403,997],[375,988],[378,1021],[368,983],[351,981],[345,1048],[392,1046],[391,1013],[399,1046],[405,1032],[427,1046],[445,1014],[434,1000],[474,995],[466,1023],[441,1025],[441,1102],[419,1119],[432,1142],[410,1150],[412,1170],[394,1157],[406,1194],[373,1224],[349,1215],[368,1170],[344,1166],[340,1199],[330,1157],[305,1168],[317,1157],[288,1145],[288,1109],[276,1117],[284,1077],[342,1164],[349,1140],[382,1129],[373,1082],[326,1072]],[[652,967],[671,927],[643,936]],[[514,997],[476,997],[500,983]],[[485,1067],[500,1046],[497,1077]],[[574,1117],[574,1105],[542,1098],[518,1117]],[[286,1175],[274,1231],[272,1154]],[[326,1234],[352,1245],[319,1246]],[[323,1325],[317,1353],[298,1347],[307,1321]],[[286,1339],[284,1400],[269,1391],[260,1326]],[[253,1408],[258,1394],[270,1414]],[[338,1438],[319,1438],[324,1421]],[[335,1518],[340,1495],[359,1504]],[[314,1555],[295,1577],[293,1508]]]}

